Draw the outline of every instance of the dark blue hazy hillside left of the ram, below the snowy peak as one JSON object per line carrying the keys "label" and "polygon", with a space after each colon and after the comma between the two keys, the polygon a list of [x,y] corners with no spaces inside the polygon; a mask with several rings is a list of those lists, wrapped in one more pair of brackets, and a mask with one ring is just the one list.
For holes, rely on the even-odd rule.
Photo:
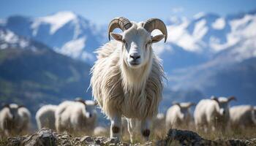
{"label": "dark blue hazy hillside left of the ram, below the snowy peak", "polygon": [[[3,42],[0,50],[0,101],[17,102],[29,107],[32,114],[42,104],[59,104],[80,96],[91,99],[88,64],[54,52],[39,42],[21,48],[17,43]],[[33,105],[33,106],[31,106]]]}

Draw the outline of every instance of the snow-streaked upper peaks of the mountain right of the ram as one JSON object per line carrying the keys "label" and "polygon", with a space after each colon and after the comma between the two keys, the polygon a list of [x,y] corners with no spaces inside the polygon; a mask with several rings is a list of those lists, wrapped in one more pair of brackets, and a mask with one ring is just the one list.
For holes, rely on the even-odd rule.
{"label": "snow-streaked upper peaks of the mountain right of the ram", "polygon": [[243,60],[255,56],[255,28],[256,12],[226,17],[199,13],[190,20],[172,17],[167,20],[167,44],[157,45],[155,50],[168,74],[204,64],[238,46],[242,48],[230,53],[244,56],[240,58]]}

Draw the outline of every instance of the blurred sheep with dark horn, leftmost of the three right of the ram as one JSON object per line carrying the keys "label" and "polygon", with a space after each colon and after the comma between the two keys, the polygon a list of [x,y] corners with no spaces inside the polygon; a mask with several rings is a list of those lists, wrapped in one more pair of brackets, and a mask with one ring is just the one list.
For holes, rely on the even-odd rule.
{"label": "blurred sheep with dark horn, leftmost of the three right of the ram", "polygon": [[189,110],[193,105],[195,104],[192,102],[173,103],[166,113],[166,128],[189,128],[189,123],[192,121]]}

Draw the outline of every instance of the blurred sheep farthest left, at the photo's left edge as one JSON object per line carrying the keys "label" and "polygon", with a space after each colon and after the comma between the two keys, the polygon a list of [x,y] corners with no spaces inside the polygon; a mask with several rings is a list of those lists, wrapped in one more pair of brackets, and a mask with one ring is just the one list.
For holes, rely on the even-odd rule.
{"label": "blurred sheep farthest left, at the photo's left edge", "polygon": [[18,104],[6,104],[0,112],[0,128],[7,136],[29,131],[30,120],[29,110]]}

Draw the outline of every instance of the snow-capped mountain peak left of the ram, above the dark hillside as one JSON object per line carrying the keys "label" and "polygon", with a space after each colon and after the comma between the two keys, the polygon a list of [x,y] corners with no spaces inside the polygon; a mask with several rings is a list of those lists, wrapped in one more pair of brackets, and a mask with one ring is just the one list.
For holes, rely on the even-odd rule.
{"label": "snow-capped mountain peak left of the ram, above the dark hillside", "polygon": [[57,12],[40,18],[16,15],[1,20],[0,26],[89,63],[95,60],[92,52],[101,42],[97,26],[74,12]]}

